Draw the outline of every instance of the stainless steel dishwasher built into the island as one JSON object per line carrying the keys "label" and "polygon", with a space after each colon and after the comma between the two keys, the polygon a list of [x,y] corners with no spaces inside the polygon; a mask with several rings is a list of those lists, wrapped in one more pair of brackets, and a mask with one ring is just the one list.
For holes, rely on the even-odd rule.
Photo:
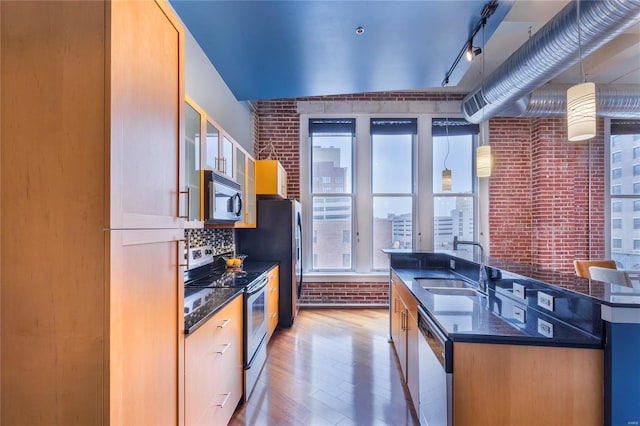
{"label": "stainless steel dishwasher built into the island", "polygon": [[453,416],[453,343],[418,306],[420,425],[451,426]]}

